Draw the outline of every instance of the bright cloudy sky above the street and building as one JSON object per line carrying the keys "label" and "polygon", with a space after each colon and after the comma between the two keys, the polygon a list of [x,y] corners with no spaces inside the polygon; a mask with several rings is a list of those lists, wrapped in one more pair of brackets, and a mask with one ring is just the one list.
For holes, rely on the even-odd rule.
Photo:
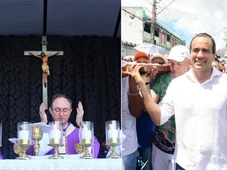
{"label": "bright cloudy sky above the street and building", "polygon": [[[226,0],[156,0],[157,22],[187,42],[200,32],[210,34],[217,50],[225,47],[227,38]],[[142,6],[152,11],[153,0],[122,0],[124,6]],[[226,29],[225,29],[226,28]]]}

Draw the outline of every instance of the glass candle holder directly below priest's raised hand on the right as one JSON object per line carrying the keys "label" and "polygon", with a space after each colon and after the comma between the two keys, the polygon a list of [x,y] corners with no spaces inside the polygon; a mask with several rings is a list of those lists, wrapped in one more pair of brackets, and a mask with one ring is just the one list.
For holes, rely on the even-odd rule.
{"label": "glass candle holder directly below priest's raised hand on the right", "polygon": [[94,123],[91,121],[84,121],[80,124],[79,129],[80,144],[84,147],[84,155],[81,158],[92,159],[93,155],[89,152],[88,147],[93,145],[94,138]]}

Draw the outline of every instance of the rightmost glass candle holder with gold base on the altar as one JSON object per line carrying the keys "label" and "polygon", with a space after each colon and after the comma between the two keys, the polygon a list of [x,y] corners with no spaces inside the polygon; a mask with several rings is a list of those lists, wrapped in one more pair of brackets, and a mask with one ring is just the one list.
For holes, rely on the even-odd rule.
{"label": "rightmost glass candle holder with gold base on the altar", "polygon": [[116,153],[116,146],[120,145],[120,124],[117,120],[110,120],[105,123],[106,144],[112,147],[112,153],[108,158],[119,158]]}

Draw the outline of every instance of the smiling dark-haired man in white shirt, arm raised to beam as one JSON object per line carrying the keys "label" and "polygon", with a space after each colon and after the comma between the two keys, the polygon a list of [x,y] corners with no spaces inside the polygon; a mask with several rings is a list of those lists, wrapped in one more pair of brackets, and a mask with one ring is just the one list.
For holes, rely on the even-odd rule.
{"label": "smiling dark-haired man in white shirt, arm raised to beam", "polygon": [[156,125],[173,114],[176,121],[176,169],[227,169],[227,75],[214,69],[215,41],[206,33],[197,34],[190,44],[192,68],[172,80],[157,105],[139,74],[132,74],[143,95],[144,105]]}

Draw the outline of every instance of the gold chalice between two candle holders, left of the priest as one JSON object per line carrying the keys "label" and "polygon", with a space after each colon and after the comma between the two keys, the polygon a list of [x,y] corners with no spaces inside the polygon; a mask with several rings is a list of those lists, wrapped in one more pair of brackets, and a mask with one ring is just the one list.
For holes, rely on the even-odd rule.
{"label": "gold chalice between two candle holders, left of the priest", "polygon": [[32,126],[32,140],[35,141],[34,152],[35,156],[39,155],[40,144],[39,141],[43,138],[43,131],[41,126]]}

